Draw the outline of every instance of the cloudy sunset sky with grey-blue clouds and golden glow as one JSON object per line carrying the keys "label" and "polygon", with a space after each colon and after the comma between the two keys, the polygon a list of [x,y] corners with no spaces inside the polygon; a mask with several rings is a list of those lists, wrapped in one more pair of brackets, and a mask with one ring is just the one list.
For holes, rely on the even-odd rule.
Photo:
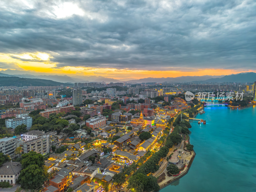
{"label": "cloudy sunset sky with grey-blue clouds and golden glow", "polygon": [[1,0],[0,72],[115,79],[256,72],[255,0]]}

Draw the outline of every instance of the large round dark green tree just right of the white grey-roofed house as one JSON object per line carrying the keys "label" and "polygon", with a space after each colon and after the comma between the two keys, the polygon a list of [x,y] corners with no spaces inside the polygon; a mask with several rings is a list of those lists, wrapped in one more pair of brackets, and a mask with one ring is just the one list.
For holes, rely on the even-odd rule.
{"label": "large round dark green tree just right of the white grey-roofed house", "polygon": [[44,173],[42,168],[37,164],[29,164],[26,168],[21,170],[19,180],[21,188],[36,189],[42,186],[44,182]]}

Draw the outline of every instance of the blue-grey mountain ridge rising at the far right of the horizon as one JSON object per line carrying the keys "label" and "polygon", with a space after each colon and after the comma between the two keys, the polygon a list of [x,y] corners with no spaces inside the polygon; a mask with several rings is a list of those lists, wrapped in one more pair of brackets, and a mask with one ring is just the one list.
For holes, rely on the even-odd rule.
{"label": "blue-grey mountain ridge rising at the far right of the horizon", "polygon": [[256,81],[256,73],[238,73],[233,75],[226,75],[221,78],[211,78],[200,82],[254,82]]}

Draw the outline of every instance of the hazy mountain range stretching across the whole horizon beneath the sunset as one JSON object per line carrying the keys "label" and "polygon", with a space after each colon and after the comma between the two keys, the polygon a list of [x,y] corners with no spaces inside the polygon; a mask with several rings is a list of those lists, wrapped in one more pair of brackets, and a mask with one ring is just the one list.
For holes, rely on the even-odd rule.
{"label": "hazy mountain range stretching across the whole horizon beneath the sunset", "polygon": [[[60,83],[76,83],[76,82],[114,82],[120,83],[123,81],[107,78],[103,76],[76,76],[70,77],[67,75],[31,75],[31,74],[21,74],[21,75],[8,75],[4,73],[0,73],[0,77],[20,77],[20,78],[32,78],[32,79],[45,79],[45,80],[52,80],[55,82]],[[142,79],[134,79],[126,81],[127,83],[136,82],[136,83],[149,83],[149,82],[156,82],[156,83],[163,83],[163,82],[173,82],[173,83],[188,83],[188,82],[254,82],[256,81],[256,73],[248,72],[248,73],[239,73],[239,74],[232,74],[232,75],[222,75],[222,76],[180,76],[180,77],[162,77],[162,78],[142,78]],[[69,84],[70,84],[69,83]]]}

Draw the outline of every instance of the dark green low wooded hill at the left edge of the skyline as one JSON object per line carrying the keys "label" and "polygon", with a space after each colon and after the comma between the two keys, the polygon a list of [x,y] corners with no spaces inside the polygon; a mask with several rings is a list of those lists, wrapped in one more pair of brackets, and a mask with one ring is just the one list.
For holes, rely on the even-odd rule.
{"label": "dark green low wooded hill at the left edge of the skyline", "polygon": [[30,79],[30,78],[20,78],[20,77],[5,77],[0,76],[0,86],[58,86],[63,84],[64,86],[69,86],[72,84],[60,83],[45,79]]}

